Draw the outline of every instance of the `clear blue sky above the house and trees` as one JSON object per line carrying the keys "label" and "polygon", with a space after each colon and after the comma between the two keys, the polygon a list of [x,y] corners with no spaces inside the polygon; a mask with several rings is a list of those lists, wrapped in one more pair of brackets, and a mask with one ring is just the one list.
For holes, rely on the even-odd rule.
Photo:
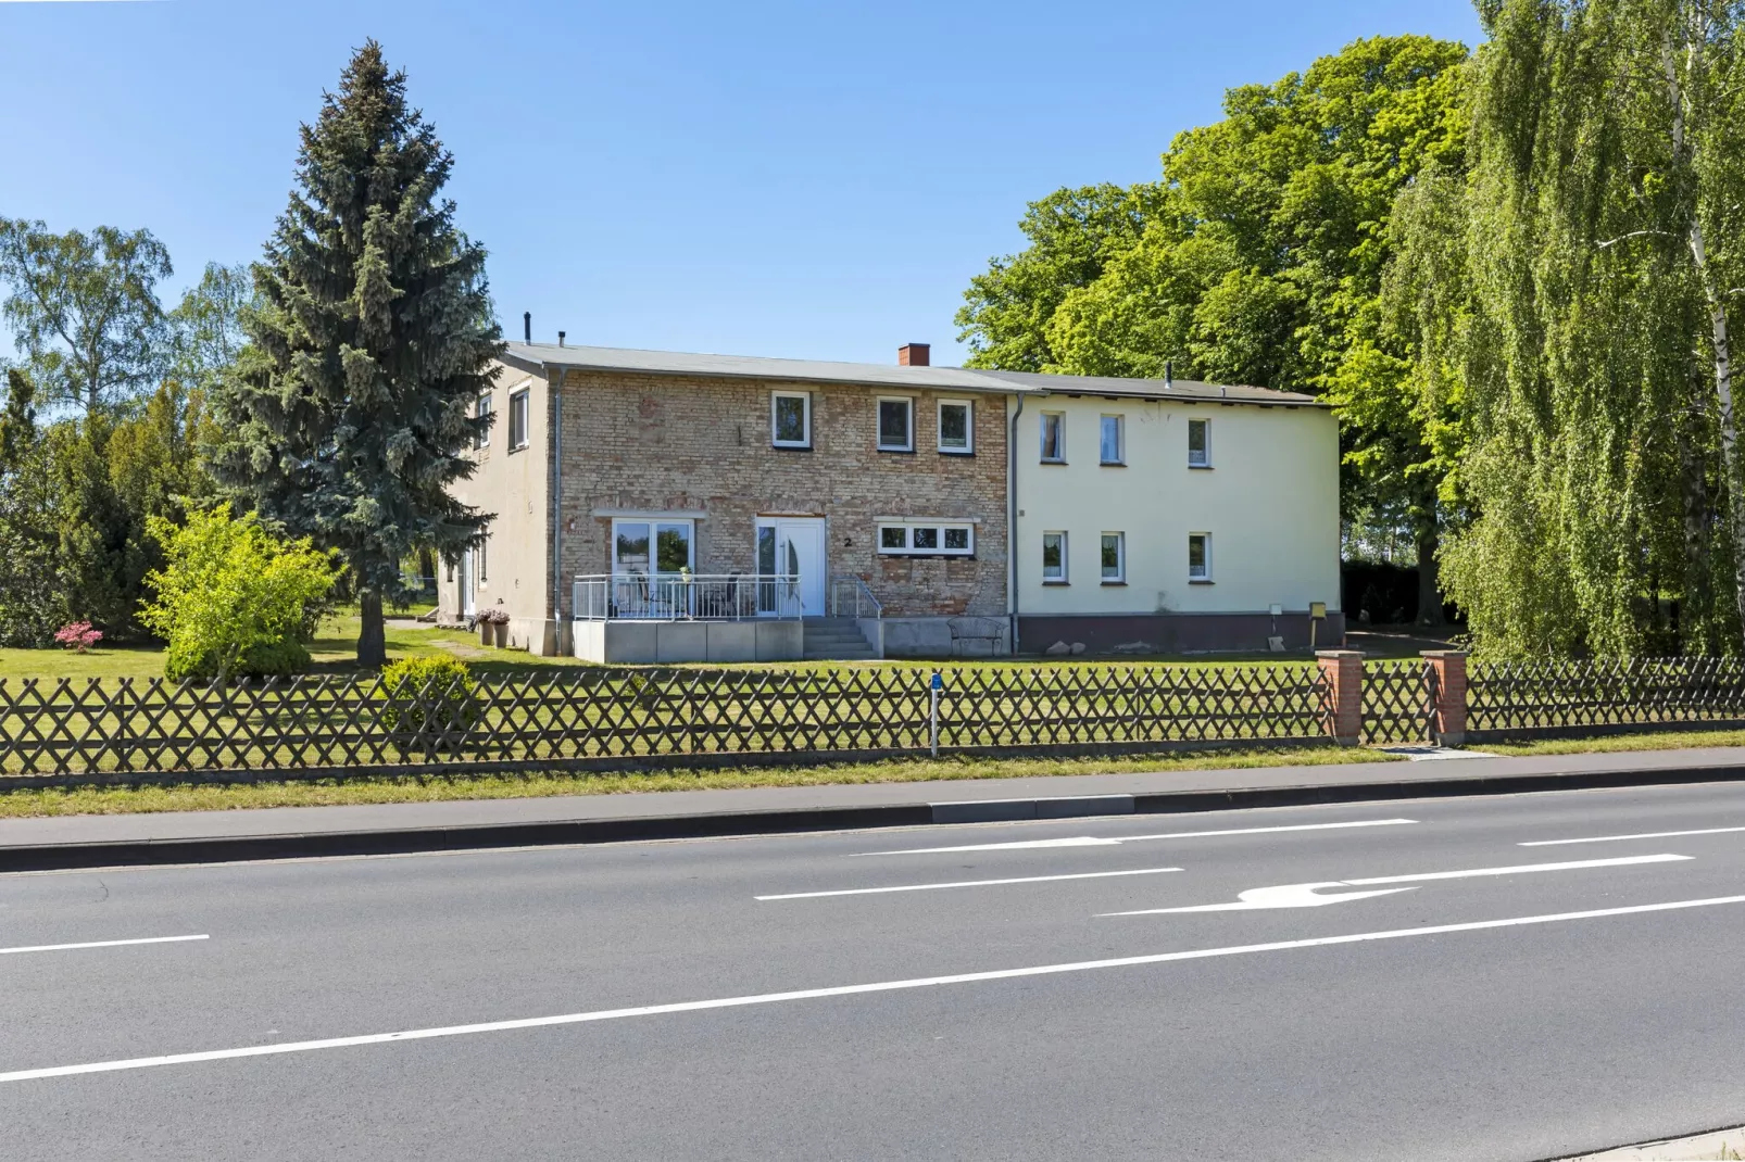
{"label": "clear blue sky above the house and trees", "polygon": [[1157,174],[1223,91],[1468,0],[0,0],[0,215],[260,253],[297,126],[366,37],[454,150],[504,332],[892,361],[961,349],[1024,202]]}

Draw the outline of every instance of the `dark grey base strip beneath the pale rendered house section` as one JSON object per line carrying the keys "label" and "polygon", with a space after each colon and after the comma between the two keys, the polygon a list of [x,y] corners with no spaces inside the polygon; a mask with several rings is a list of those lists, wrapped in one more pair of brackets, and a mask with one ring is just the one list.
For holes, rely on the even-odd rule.
{"label": "dark grey base strip beneath the pale rendered house section", "polygon": [[1284,651],[1337,649],[1345,640],[1345,614],[1328,611],[1312,623],[1307,612],[1162,612],[1019,616],[1023,654],[1234,654],[1269,653],[1272,639]]}

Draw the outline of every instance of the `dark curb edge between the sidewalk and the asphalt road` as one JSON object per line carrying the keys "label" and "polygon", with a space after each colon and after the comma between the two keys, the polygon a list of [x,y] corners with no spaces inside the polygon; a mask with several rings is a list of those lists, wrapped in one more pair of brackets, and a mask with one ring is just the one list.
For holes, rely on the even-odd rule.
{"label": "dark curb edge between the sidewalk and the asphalt road", "polygon": [[1686,783],[1745,782],[1745,764],[1557,771],[1473,778],[1396,778],[1370,783],[1305,783],[1295,787],[1232,787],[1227,790],[1162,790],[1117,796],[1056,796],[972,799],[958,803],[890,803],[710,815],[647,815],[630,818],[543,820],[454,827],[400,827],[276,836],[199,836],[188,839],[124,839],[99,843],[0,846],[0,872],[133,867],[152,864],[230,864],[344,855],[412,855],[492,848],[714,839],[872,827],[993,824],[1108,815],[1169,815],[1237,808],[1384,803],[1389,799],[1450,799],[1544,790],[1605,790]]}

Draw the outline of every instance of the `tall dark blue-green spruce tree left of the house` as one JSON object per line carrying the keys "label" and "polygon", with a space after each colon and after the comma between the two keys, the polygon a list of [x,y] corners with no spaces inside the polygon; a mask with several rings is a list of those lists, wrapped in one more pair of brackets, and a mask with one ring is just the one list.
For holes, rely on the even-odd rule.
{"label": "tall dark blue-green spruce tree left of the house", "polygon": [[386,661],[382,604],[415,593],[400,562],[455,557],[490,515],[455,501],[503,333],[485,249],[440,199],[454,157],[370,40],[302,127],[297,188],[253,267],[250,347],[213,393],[211,450],[293,536],[340,553],[363,612],[358,661]]}

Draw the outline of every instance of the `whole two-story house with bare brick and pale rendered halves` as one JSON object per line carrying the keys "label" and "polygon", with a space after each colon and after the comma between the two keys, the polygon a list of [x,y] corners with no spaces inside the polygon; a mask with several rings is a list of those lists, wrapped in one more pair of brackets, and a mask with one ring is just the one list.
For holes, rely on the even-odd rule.
{"label": "whole two-story house with bare brick and pale rendered halves", "polygon": [[1337,433],[1307,396],[923,344],[885,366],[524,342],[478,410],[455,494],[496,518],[440,616],[501,611],[534,653],[1265,649],[1314,602],[1342,633]]}

